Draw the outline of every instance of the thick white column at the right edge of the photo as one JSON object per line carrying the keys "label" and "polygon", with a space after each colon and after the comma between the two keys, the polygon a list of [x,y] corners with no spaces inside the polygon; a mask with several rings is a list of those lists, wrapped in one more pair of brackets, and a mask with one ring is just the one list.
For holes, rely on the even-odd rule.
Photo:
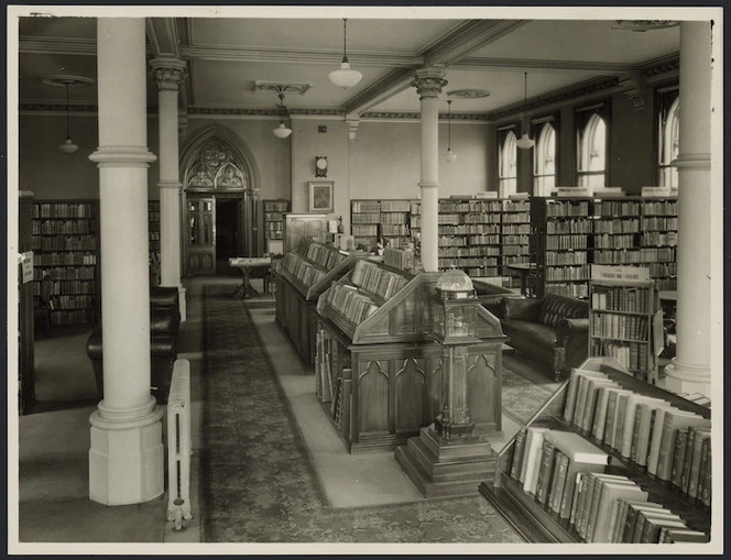
{"label": "thick white column at the right edge of the photo", "polygon": [[[680,23],[677,352],[665,386],[710,395],[711,25]],[[719,240],[720,242],[720,240]],[[721,374],[722,372],[719,372]]]}

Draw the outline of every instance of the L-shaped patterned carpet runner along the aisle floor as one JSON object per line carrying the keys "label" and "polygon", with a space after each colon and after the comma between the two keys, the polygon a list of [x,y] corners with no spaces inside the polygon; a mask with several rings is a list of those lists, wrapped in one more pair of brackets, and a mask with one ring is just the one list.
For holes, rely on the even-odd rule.
{"label": "L-shaped patterned carpet runner along the aisle floor", "polygon": [[204,287],[205,542],[522,542],[474,497],[332,509],[243,304]]}

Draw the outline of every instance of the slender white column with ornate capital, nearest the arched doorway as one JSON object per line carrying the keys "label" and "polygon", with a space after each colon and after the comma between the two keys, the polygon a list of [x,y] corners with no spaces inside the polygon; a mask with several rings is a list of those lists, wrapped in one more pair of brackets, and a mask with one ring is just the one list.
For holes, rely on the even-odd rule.
{"label": "slender white column with ornate capital, nearest the arched doorway", "polygon": [[185,288],[181,284],[181,182],[178,175],[177,90],[185,62],[161,57],[150,61],[157,83],[160,130],[160,272],[161,286],[176,287],[181,320],[185,320]]}

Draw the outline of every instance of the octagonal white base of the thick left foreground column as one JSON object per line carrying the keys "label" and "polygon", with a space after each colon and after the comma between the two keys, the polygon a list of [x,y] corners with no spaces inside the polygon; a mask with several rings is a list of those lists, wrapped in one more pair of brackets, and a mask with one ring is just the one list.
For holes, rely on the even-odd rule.
{"label": "octagonal white base of the thick left foreground column", "polygon": [[89,498],[114,506],[141,504],[165,490],[163,410],[151,402],[146,414],[105,416],[103,400],[95,410],[89,449]]}

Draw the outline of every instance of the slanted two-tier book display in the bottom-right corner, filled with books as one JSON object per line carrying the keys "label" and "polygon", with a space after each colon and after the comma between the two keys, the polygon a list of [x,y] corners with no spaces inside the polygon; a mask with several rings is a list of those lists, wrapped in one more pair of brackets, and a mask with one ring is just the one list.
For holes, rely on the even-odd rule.
{"label": "slanted two-tier book display in the bottom-right corner, filled with books", "polygon": [[706,542],[710,416],[613,358],[589,358],[503,447],[479,491],[528,542]]}

